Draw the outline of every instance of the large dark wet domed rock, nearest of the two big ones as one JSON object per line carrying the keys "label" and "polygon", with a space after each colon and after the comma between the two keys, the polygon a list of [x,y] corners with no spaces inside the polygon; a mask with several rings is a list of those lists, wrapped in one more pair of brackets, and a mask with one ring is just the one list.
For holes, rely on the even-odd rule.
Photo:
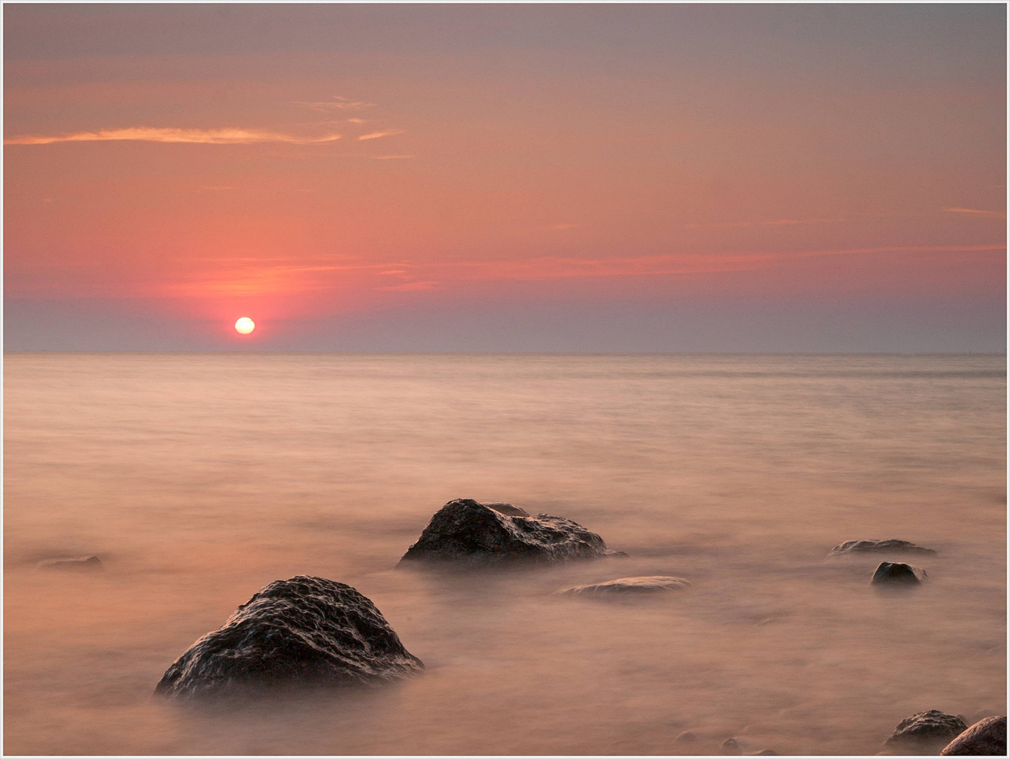
{"label": "large dark wet domed rock, nearest of the two big ones", "polygon": [[350,585],[298,575],[263,587],[166,670],[155,693],[225,695],[273,685],[348,685],[424,668]]}

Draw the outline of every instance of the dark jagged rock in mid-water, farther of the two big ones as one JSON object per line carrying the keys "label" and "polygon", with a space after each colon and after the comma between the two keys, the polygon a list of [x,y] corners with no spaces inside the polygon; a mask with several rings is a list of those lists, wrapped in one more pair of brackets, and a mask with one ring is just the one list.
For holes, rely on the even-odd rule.
{"label": "dark jagged rock in mid-water, farther of the two big ones", "polygon": [[458,499],[438,510],[400,563],[459,559],[553,562],[599,558],[606,550],[603,538],[572,520],[548,514],[510,516],[470,499]]}

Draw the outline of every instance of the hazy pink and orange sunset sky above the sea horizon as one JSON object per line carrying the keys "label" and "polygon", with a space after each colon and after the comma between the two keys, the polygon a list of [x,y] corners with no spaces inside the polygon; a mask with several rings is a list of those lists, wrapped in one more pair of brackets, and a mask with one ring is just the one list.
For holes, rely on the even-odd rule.
{"label": "hazy pink and orange sunset sky above the sea horizon", "polygon": [[6,350],[1006,349],[1003,4],[3,20]]}

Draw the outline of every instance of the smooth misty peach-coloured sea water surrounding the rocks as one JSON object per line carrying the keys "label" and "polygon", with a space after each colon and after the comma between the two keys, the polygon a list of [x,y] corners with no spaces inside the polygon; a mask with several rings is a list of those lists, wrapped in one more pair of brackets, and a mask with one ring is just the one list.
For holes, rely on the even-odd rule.
{"label": "smooth misty peach-coloured sea water surrounding the rocks", "polygon": [[[1005,356],[10,353],[4,378],[7,754],[872,754],[916,712],[1005,709]],[[394,570],[454,498],[629,557]],[[825,558],[860,538],[937,549],[931,581]],[[106,570],[34,568],[84,554]],[[424,674],[150,697],[295,574],[372,599]],[[641,574],[693,587],[550,594]]]}

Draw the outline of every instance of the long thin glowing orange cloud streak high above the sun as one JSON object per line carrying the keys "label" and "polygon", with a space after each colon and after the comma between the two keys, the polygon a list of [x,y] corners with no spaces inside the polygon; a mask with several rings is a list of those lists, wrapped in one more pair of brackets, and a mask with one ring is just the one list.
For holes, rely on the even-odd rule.
{"label": "long thin glowing orange cloud streak high above the sun", "polygon": [[192,142],[211,145],[249,145],[257,142],[288,142],[297,145],[333,142],[339,134],[305,137],[265,129],[177,129],[174,127],[134,126],[124,129],[100,129],[59,135],[20,135],[4,139],[5,145],[47,145],[54,142],[102,142],[132,140],[138,142]]}

